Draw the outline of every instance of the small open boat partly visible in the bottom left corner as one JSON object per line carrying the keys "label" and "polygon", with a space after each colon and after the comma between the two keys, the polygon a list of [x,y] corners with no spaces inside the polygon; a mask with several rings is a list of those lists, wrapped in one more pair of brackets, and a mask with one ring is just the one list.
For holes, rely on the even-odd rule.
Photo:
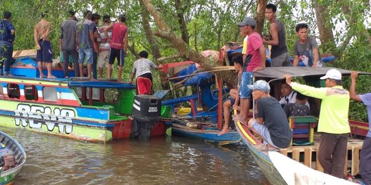
{"label": "small open boat partly visible in the bottom left corner", "polygon": [[16,165],[10,169],[0,167],[0,184],[13,184],[16,175],[21,171],[26,161],[26,153],[16,140],[3,132],[0,132],[0,143],[14,153]]}

